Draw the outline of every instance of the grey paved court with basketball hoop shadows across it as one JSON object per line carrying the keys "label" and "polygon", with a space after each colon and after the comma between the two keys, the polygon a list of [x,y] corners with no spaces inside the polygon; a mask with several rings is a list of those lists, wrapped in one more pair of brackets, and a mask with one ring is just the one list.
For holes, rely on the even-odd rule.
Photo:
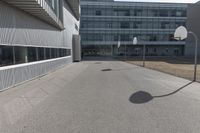
{"label": "grey paved court with basketball hoop shadows across it", "polygon": [[120,61],[68,65],[0,104],[0,133],[200,132],[199,83]]}

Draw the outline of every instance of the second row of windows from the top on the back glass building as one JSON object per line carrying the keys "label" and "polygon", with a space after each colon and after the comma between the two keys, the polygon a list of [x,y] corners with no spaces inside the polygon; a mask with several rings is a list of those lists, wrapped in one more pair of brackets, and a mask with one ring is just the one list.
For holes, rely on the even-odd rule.
{"label": "second row of windows from the top on the back glass building", "polygon": [[83,21],[81,28],[121,28],[121,29],[175,29],[178,26],[186,25],[185,21],[163,21],[163,22],[146,22],[146,21],[124,21],[124,22],[111,22],[111,21]]}

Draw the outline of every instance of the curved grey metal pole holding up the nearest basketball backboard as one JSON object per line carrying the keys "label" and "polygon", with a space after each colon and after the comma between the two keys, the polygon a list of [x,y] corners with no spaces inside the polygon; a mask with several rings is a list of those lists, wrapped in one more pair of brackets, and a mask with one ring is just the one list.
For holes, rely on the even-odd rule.
{"label": "curved grey metal pole holding up the nearest basketball backboard", "polygon": [[195,38],[195,56],[194,56],[194,78],[193,81],[197,80],[197,56],[198,56],[198,37],[194,32],[189,32]]}

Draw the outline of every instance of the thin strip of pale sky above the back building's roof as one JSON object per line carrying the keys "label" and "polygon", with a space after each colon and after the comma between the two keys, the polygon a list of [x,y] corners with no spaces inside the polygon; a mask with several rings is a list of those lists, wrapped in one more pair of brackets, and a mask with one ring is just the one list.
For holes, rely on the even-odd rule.
{"label": "thin strip of pale sky above the back building's roof", "polygon": [[199,0],[115,0],[115,1],[195,3]]}

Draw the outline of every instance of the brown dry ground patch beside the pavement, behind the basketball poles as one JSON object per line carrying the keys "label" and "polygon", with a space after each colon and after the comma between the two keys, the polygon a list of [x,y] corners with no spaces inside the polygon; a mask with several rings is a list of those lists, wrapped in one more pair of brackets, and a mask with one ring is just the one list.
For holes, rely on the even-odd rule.
{"label": "brown dry ground patch beside the pavement, behind the basketball poles", "polygon": [[[142,66],[141,57],[121,59],[125,62]],[[198,61],[200,63],[200,60]],[[194,59],[185,57],[147,57],[145,67],[193,80]],[[197,68],[197,80],[200,82],[200,64]]]}

